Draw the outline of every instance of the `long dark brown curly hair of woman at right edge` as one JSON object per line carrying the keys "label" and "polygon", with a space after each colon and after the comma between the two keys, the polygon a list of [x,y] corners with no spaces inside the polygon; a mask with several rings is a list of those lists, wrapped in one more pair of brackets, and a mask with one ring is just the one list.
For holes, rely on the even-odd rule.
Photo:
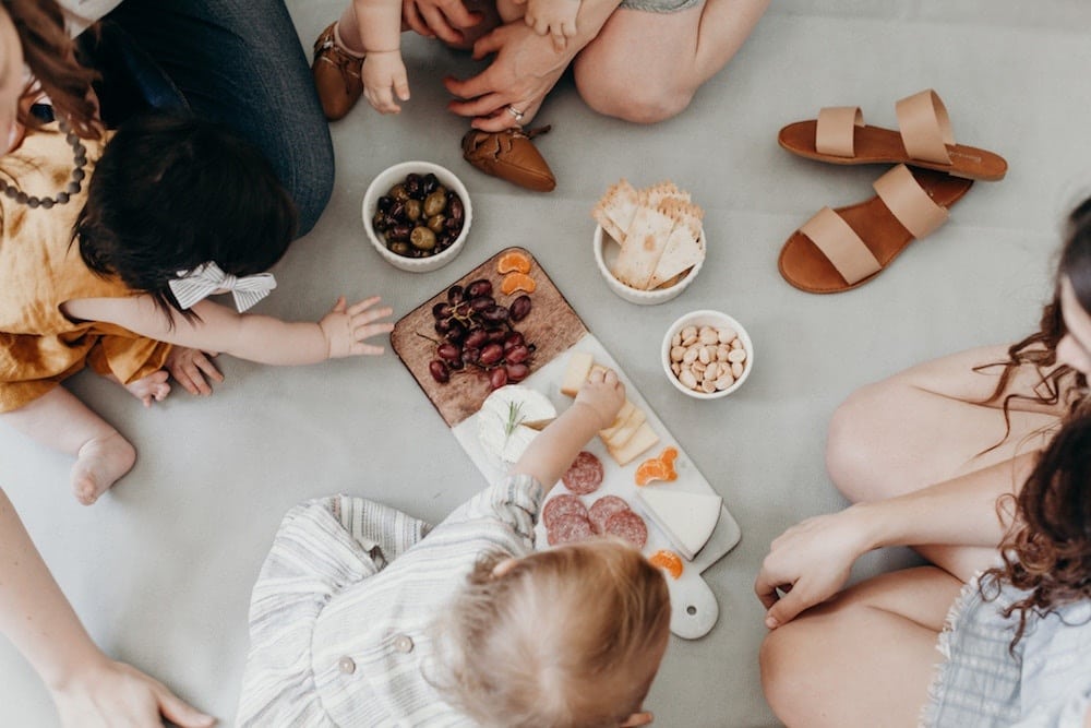
{"label": "long dark brown curly hair of woman at right edge", "polygon": [[1018,496],[1011,500],[1016,520],[1002,547],[1003,565],[982,578],[982,594],[995,597],[1000,583],[1029,592],[1004,610],[1019,614],[1011,648],[1027,631],[1031,616],[1043,617],[1064,604],[1091,598],[1091,403],[1087,377],[1057,363],[1057,345],[1067,333],[1062,317],[1059,287],[1068,281],[1080,307],[1091,313],[1091,198],[1068,216],[1060,250],[1053,300],[1042,312],[1039,331],[1008,349],[1008,361],[990,401],[1003,398],[1005,420],[1014,399],[1028,395],[1006,393],[1015,371],[1023,366],[1041,373],[1036,401],[1066,405],[1060,429]]}

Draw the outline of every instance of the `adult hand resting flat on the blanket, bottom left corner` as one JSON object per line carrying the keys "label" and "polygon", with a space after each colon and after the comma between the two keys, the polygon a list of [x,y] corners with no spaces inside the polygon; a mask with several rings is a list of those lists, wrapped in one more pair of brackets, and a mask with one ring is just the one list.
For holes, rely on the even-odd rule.
{"label": "adult hand resting flat on the blanket, bottom left corner", "polygon": [[159,728],[163,718],[181,728],[206,728],[216,723],[158,680],[105,655],[55,689],[52,696],[65,728]]}

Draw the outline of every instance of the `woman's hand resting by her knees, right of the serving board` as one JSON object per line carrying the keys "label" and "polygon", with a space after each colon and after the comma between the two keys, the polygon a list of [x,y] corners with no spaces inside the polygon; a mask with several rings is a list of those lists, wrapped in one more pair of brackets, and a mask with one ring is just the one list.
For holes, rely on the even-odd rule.
{"label": "woman's hand resting by her knees, right of the serving board", "polygon": [[768,609],[766,626],[776,629],[841,590],[852,564],[871,549],[864,523],[859,506],[851,506],[807,518],[772,541],[754,582]]}

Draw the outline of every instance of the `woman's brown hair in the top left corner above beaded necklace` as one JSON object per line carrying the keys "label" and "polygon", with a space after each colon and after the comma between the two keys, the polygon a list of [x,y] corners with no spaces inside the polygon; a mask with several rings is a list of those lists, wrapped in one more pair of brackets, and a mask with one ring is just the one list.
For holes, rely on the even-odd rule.
{"label": "woman's brown hair in the top left corner above beaded necklace", "polygon": [[[92,88],[97,73],[76,60],[75,43],[64,28],[64,11],[56,0],[0,0],[11,16],[23,61],[52,100],[57,114],[68,119],[72,131],[84,139],[100,139],[98,103]],[[27,89],[24,98],[28,98]],[[37,129],[41,121],[29,114],[27,104],[20,104],[19,121]]]}

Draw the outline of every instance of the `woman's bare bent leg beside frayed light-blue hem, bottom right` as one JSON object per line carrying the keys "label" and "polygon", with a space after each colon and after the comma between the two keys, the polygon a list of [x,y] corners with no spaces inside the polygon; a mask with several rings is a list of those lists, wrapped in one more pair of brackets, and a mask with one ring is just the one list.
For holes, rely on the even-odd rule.
{"label": "woman's bare bent leg beside frayed light-blue hem, bottom right", "polygon": [[772,630],[766,700],[788,726],[915,726],[962,583],[935,566],[883,574]]}

